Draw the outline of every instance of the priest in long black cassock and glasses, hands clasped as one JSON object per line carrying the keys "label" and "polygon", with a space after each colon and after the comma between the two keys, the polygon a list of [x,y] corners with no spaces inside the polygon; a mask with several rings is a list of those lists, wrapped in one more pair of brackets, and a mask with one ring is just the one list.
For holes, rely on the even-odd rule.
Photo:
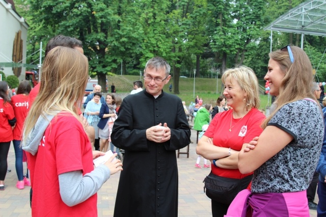
{"label": "priest in long black cassock and glasses, hands clasped", "polygon": [[115,217],[178,215],[176,150],[190,143],[191,131],[181,99],[162,90],[170,69],[163,58],[148,60],[146,89],[124,98],[119,109],[111,140],[125,155]]}

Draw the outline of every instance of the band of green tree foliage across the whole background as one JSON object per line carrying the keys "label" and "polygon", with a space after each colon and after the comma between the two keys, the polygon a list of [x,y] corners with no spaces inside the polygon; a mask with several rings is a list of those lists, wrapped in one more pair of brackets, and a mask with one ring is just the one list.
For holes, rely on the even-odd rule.
{"label": "band of green tree foliage across the whole background", "polygon": [[[258,78],[266,73],[270,31],[263,27],[304,0],[21,0],[16,10],[30,25],[27,63],[38,63],[50,38],[63,34],[83,41],[91,77],[105,85],[107,72],[139,75],[153,56],[171,65],[173,91],[182,91],[180,75],[215,77],[244,64]],[[273,32],[272,50],[300,46],[296,34]],[[326,38],[305,36],[317,69]],[[44,56],[44,55],[43,55]],[[199,58],[200,57],[200,58]],[[324,61],[317,70],[326,80]],[[213,69],[213,70],[212,70]],[[213,73],[211,73],[213,71]],[[172,80],[171,80],[172,81]]]}

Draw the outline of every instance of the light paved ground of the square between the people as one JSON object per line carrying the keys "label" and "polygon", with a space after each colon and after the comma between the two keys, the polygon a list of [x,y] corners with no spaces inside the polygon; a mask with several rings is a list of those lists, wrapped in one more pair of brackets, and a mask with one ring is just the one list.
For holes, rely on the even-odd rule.
{"label": "light paved ground of the square between the people", "polygon": [[[179,168],[179,216],[211,216],[210,199],[203,192],[203,179],[209,174],[210,169],[195,168],[197,160],[196,132],[192,130],[189,158],[186,154],[180,154]],[[185,148],[184,148],[185,150]],[[182,150],[182,151],[184,151]],[[200,163],[203,165],[203,162]],[[30,187],[18,190],[15,187],[17,176],[15,172],[15,154],[11,145],[8,156],[8,166],[12,170],[7,173],[6,190],[0,191],[0,216],[31,216],[29,202]],[[113,216],[116,192],[120,174],[114,174],[98,192],[98,216]],[[317,195],[315,202],[318,201]],[[312,217],[316,217],[316,211],[310,210]]]}

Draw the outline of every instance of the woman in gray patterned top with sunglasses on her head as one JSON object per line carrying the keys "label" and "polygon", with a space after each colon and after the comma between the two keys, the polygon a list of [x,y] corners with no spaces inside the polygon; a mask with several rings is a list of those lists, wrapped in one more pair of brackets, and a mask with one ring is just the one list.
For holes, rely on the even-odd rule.
{"label": "woman in gray patterned top with sunglasses on her head", "polygon": [[252,216],[309,216],[306,190],[324,130],[311,92],[311,63],[301,48],[290,45],[269,57],[264,79],[270,94],[277,96],[276,109],[263,122],[259,138],[242,147],[238,167],[241,173],[254,171],[252,193],[247,195]]}

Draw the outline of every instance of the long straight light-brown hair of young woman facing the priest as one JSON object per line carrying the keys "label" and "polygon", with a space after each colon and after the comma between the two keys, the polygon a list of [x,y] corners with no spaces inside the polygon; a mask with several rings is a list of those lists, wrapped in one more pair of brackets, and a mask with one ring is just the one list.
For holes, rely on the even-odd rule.
{"label": "long straight light-brown hair of young woman facing the priest", "polygon": [[[67,111],[79,120],[77,108],[82,103],[87,81],[88,60],[85,55],[62,46],[50,50],[42,67],[39,94],[24,123],[25,135],[30,134],[41,115],[45,117]],[[26,138],[23,138],[23,144]]]}

